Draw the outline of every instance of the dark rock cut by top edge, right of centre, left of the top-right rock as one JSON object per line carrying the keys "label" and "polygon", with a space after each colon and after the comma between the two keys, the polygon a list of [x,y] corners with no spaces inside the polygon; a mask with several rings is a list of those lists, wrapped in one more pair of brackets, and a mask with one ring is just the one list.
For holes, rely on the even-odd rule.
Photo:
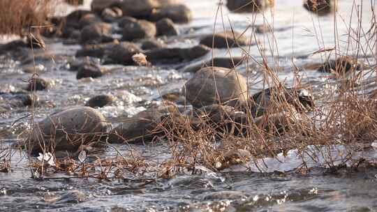
{"label": "dark rock cut by top edge, right of centre, left of the top-right rock", "polygon": [[259,13],[274,6],[274,0],[228,0],[226,6],[235,13]]}

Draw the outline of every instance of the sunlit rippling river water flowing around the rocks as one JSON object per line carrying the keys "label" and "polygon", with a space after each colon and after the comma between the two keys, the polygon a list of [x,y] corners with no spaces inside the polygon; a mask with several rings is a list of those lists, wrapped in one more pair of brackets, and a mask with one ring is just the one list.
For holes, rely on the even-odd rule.
{"label": "sunlit rippling river water flowing around the rocks", "polygon": [[[325,54],[311,53],[334,47],[334,40],[341,40],[339,45],[342,52],[356,55],[355,46],[347,48],[346,45],[348,24],[357,27],[358,23],[355,17],[350,21],[350,16],[355,16],[355,12],[351,11],[355,8],[363,10],[360,20],[366,30],[373,15],[370,10],[373,1],[356,1],[357,6],[350,0],[341,1],[337,15],[339,39],[335,39],[334,15],[317,17],[304,10],[302,2],[298,0],[276,1],[273,12],[265,12],[265,19],[262,15],[232,14],[225,6],[215,18],[217,1],[184,2],[193,10],[194,20],[179,26],[184,33],[170,39],[170,46],[193,46],[199,42],[200,36],[212,33],[214,26],[216,31],[221,31],[223,27],[229,29],[230,25],[237,31],[243,31],[255,18],[256,24],[268,22],[274,26],[274,33],[257,35],[256,38],[265,45],[269,65],[276,67],[279,64],[279,78],[287,86],[293,86],[295,81],[293,64],[303,67],[308,63],[325,61]],[[361,3],[363,6],[360,6]],[[246,34],[250,35],[251,31]],[[5,39],[1,41],[4,42]],[[117,100],[99,110],[116,126],[120,117],[132,116],[148,105],[161,103],[161,94],[179,91],[192,76],[191,73],[184,73],[181,66],[140,68],[108,65],[103,66],[108,70],[103,77],[77,80],[68,64],[75,59],[75,52],[80,46],[65,45],[59,39],[47,39],[46,43],[45,52],[35,50],[36,64],[40,76],[50,79],[53,84],[47,91],[38,91],[39,103],[34,109],[36,121],[64,107],[84,105],[92,96],[112,94]],[[259,51],[256,46],[245,50],[253,58],[251,61],[260,62]],[[239,49],[230,52],[232,56],[245,54]],[[229,56],[228,50],[215,50],[213,54]],[[200,63],[211,56],[209,54],[191,63]],[[375,63],[368,54],[362,60],[370,66]],[[27,85],[33,65],[31,57],[14,61],[9,56],[0,56],[0,61],[0,92],[20,91]],[[303,83],[312,84],[316,96],[323,94],[323,90],[327,89],[323,84],[332,80],[329,74],[300,69]],[[237,70],[246,74],[246,66],[240,66]],[[252,73],[258,73],[258,66]],[[261,88],[263,84],[251,84],[251,92]],[[27,129],[30,113],[31,108],[17,107],[10,100],[0,97],[1,148],[16,142],[17,135]],[[165,144],[117,145],[117,148],[124,156],[133,150],[154,161],[165,160],[169,156]],[[347,150],[343,146],[332,148],[334,155],[342,160],[341,153]],[[116,152],[111,148],[101,153],[102,158],[114,155]],[[360,153],[360,156],[374,160],[377,153],[371,149]],[[221,173],[202,167],[201,174],[182,174],[174,179],[156,179],[151,183],[97,179],[37,181],[31,179],[24,153],[15,151],[10,157],[12,172],[0,172],[0,211],[377,211],[376,169],[346,169],[334,174],[323,167],[321,162],[325,160],[324,156],[323,160],[313,162],[309,175],[302,176],[292,171],[300,165],[295,151],[290,151],[286,157],[279,157],[283,163],[266,158],[265,173],[259,173],[251,165],[247,169],[231,167]],[[52,174],[50,177],[59,176]],[[149,177],[154,179],[156,176],[151,174]]]}

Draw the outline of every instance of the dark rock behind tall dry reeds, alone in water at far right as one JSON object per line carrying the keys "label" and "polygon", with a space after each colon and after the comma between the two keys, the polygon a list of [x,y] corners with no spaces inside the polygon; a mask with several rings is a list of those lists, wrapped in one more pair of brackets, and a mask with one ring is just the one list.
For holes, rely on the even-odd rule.
{"label": "dark rock behind tall dry reeds, alone in water at far right", "polygon": [[337,60],[329,60],[323,63],[323,66],[318,68],[320,72],[330,73],[332,71],[336,73],[347,73],[348,71],[361,70],[364,68],[363,63],[357,61],[357,58],[352,56],[340,56]]}

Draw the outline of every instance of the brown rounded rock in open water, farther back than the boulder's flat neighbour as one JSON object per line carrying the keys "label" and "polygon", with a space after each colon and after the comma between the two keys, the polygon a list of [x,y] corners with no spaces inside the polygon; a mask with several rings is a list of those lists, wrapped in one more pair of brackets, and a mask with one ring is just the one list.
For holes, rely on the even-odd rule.
{"label": "brown rounded rock in open water, farther back than the boulder's flat neighbour", "polygon": [[[234,33],[234,34],[233,34]],[[206,45],[207,47],[213,47],[214,48],[227,48],[227,40],[229,47],[238,47],[249,45],[249,40],[246,38],[246,36],[242,35],[241,33],[232,32],[232,31],[223,31],[220,33],[215,33],[214,35],[208,35],[204,36],[200,40],[200,44]]]}

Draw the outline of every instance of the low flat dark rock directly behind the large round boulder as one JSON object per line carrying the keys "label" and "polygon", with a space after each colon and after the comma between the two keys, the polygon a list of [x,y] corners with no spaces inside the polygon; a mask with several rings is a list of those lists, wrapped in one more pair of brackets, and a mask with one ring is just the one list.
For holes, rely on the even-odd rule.
{"label": "low flat dark rock directly behind the large round boulder", "polygon": [[208,61],[203,61],[199,64],[194,64],[193,66],[187,66],[184,68],[185,72],[196,73],[201,68],[207,66],[216,66],[222,68],[235,68],[239,66],[242,61],[244,60],[243,57],[233,57],[232,59],[228,57],[215,57],[214,59],[209,59]]}

